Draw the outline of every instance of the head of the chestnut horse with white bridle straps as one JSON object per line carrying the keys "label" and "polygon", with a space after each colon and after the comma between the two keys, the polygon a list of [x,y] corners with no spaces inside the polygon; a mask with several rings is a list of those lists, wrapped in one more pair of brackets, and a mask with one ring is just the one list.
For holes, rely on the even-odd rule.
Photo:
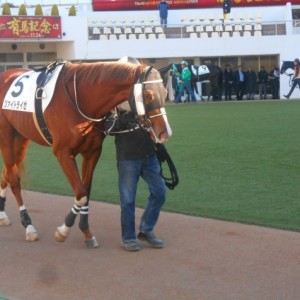
{"label": "head of the chestnut horse with white bridle straps", "polygon": [[141,82],[135,84],[135,101],[139,119],[155,143],[164,143],[172,135],[164,108],[166,97],[167,90],[159,72],[146,67]]}

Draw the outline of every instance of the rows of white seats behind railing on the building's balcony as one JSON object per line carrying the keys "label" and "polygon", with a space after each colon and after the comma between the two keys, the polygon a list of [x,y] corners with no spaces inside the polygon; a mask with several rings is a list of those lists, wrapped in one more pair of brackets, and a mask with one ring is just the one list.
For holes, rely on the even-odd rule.
{"label": "rows of white seats behind railing on the building's balcony", "polygon": [[[300,28],[299,28],[300,29]],[[286,35],[286,22],[213,22],[209,23],[180,23],[159,25],[157,19],[148,20],[112,20],[88,19],[90,40],[110,39],[176,39],[176,38],[229,38],[251,36]]]}

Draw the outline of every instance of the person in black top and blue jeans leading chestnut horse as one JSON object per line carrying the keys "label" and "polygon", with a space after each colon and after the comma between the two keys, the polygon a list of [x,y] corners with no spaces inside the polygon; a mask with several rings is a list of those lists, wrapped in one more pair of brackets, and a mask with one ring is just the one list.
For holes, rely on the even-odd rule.
{"label": "person in black top and blue jeans leading chestnut horse", "polygon": [[[128,62],[139,64],[136,59],[127,58]],[[121,59],[121,61],[124,61]],[[122,109],[122,105],[119,107]],[[133,112],[121,111],[122,126],[126,130],[132,126],[135,118]],[[155,154],[149,133],[138,128],[133,131],[115,135],[118,184],[121,204],[122,241],[125,250],[139,251],[140,244],[136,237],[147,242],[153,248],[163,248],[163,241],[153,233],[160,210],[166,198],[166,186],[160,176],[160,164]],[[135,232],[135,199],[138,181],[142,177],[148,185],[148,204],[142,215],[139,230]]]}

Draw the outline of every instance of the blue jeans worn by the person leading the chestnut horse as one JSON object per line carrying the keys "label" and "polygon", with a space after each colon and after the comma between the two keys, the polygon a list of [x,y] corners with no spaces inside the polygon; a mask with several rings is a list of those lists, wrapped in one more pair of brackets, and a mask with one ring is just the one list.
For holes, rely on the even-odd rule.
{"label": "blue jeans worn by the person leading the chestnut horse", "polygon": [[166,198],[166,186],[159,174],[160,165],[156,155],[144,159],[120,160],[118,161],[118,172],[122,240],[134,240],[136,238],[135,197],[140,176],[147,183],[150,192],[139,228],[144,233],[151,233],[157,223]]}

